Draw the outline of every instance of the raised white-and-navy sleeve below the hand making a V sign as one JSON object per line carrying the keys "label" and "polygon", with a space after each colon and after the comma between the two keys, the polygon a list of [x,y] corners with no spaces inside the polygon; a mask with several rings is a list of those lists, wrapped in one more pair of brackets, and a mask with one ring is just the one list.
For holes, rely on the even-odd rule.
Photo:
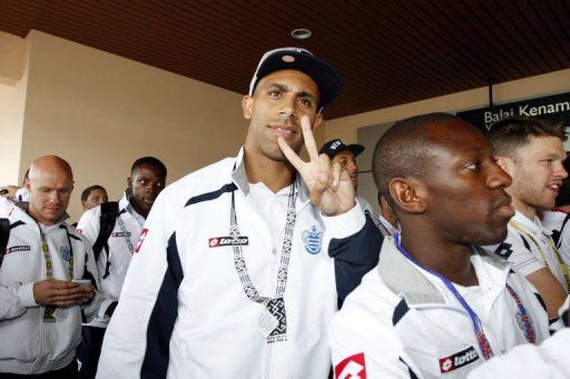
{"label": "raised white-and-navy sleeve below the hand making a V sign", "polygon": [[362,277],[379,263],[382,233],[370,215],[356,206],[335,217],[323,217],[325,246],[334,258],[338,308],[362,281]]}

